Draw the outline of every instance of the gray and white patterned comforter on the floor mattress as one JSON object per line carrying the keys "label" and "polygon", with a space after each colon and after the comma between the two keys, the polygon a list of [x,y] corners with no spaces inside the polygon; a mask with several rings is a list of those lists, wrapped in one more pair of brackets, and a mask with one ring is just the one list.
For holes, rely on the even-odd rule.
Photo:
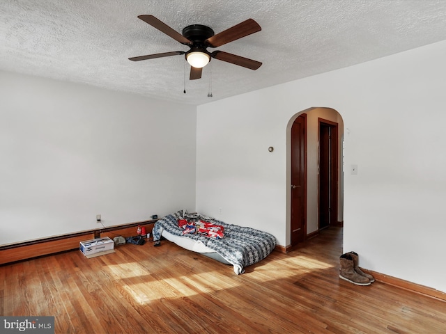
{"label": "gray and white patterned comforter on the floor mattress", "polygon": [[[222,225],[224,227],[224,238],[213,239],[199,234],[183,234],[183,229],[178,227],[178,219],[187,219],[187,221],[203,219],[216,225]],[[270,233],[224,223],[201,214],[190,214],[186,210],[169,214],[157,221],[152,231],[154,241],[160,240],[163,230],[174,235],[201,241],[208,248],[215,250],[224,260],[231,263],[234,272],[237,274],[243,273],[245,267],[270,255],[276,246],[276,239]]]}

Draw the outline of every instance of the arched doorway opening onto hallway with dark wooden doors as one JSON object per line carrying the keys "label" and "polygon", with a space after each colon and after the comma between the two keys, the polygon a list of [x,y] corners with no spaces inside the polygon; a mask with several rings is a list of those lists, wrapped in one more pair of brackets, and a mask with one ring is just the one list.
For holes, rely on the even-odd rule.
{"label": "arched doorway opening onto hallway with dark wooden doors", "polygon": [[[293,139],[292,139],[292,129],[295,121],[298,120],[299,116],[305,114],[306,119],[306,129],[305,129],[305,190],[302,196],[304,196],[305,207],[302,210],[302,213],[295,212],[293,208],[293,200],[297,193],[293,193],[296,188],[293,188]],[[326,128],[326,126],[329,126]],[[322,127],[322,131],[321,131]],[[335,130],[334,130],[335,127]],[[322,132],[322,134],[321,134]],[[325,145],[327,144],[327,138],[330,138],[331,132],[337,134],[337,138],[333,138],[334,144],[330,144],[328,148],[325,147],[325,154],[321,157],[321,135],[323,136],[323,140]],[[295,223],[292,221],[295,216],[302,216],[305,225],[302,226],[304,232],[303,239],[308,239],[310,237],[314,237],[318,234],[320,228],[323,228],[323,225],[320,226],[321,212],[320,204],[321,198],[328,198],[328,204],[325,204],[325,209],[328,208],[330,214],[328,215],[330,221],[329,225],[339,225],[343,223],[344,216],[344,175],[343,175],[343,141],[344,141],[344,121],[342,120],[341,115],[334,109],[331,108],[310,108],[305,111],[301,111],[296,113],[290,120],[287,126],[287,173],[286,173],[286,181],[287,181],[287,207],[286,207],[286,218],[287,218],[287,236],[286,236],[286,248],[291,248],[296,244],[296,238],[293,235],[295,234]],[[298,144],[301,145],[301,144]],[[335,149],[335,153],[334,153]],[[330,155],[331,154],[331,155]],[[333,157],[332,154],[335,154]],[[327,190],[321,188],[321,162],[325,164],[321,159],[329,158],[330,164],[334,164],[334,166],[329,166],[326,168],[325,172],[328,173],[328,182],[330,186]],[[333,162],[334,161],[334,162]],[[294,168],[296,169],[296,168]],[[297,168],[299,169],[299,168]],[[328,172],[327,172],[328,170]],[[325,174],[327,175],[327,174]],[[326,182],[325,180],[322,180]],[[327,194],[321,193],[323,191],[330,191],[329,196],[325,196]],[[333,196],[335,194],[336,196]],[[334,204],[337,202],[336,204]],[[301,242],[302,238],[297,239],[297,243]]]}

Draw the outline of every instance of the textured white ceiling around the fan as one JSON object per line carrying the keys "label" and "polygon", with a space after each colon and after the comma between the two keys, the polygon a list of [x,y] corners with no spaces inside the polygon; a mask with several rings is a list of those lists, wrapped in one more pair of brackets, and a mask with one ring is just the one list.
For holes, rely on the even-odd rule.
{"label": "textured white ceiling around the fan", "polygon": [[[213,60],[189,81],[187,51],[137,18],[215,33],[252,18],[262,30],[217,49],[261,61]],[[446,40],[445,0],[1,0],[0,70],[203,104]],[[185,68],[186,67],[186,68]],[[186,72],[186,90],[183,93]],[[211,75],[212,72],[212,75]],[[208,97],[212,77],[213,97]]]}

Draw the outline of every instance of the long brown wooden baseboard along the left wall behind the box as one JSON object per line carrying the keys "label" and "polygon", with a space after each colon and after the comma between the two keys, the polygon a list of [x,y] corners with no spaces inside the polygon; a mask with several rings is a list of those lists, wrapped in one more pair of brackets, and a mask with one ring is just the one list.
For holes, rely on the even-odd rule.
{"label": "long brown wooden baseboard along the left wall behind the box", "polygon": [[115,225],[108,228],[98,228],[70,234],[63,234],[55,237],[23,241],[16,244],[0,246],[0,265],[10,264],[17,261],[29,260],[34,257],[41,257],[68,250],[79,249],[79,242],[99,237],[109,237],[113,239],[117,235],[131,237],[137,234],[137,226],[146,226],[146,232],[152,232],[152,221],[139,221],[124,225]]}

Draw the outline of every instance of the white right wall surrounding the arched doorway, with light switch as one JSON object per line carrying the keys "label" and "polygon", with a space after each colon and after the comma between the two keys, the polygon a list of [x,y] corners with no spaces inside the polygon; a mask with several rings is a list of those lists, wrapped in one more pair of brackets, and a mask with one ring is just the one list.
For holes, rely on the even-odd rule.
{"label": "white right wall surrounding the arched doorway, with light switch", "polygon": [[446,292],[445,59],[446,41],[199,106],[197,210],[221,207],[225,221],[286,246],[286,127],[330,107],[346,129],[344,250]]}

